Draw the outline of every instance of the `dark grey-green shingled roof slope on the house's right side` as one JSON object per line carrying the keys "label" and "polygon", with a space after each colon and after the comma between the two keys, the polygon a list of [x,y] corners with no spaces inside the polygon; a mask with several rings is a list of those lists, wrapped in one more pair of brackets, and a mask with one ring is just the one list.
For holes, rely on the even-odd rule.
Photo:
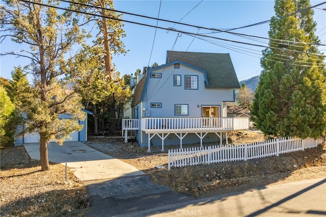
{"label": "dark grey-green shingled roof slope on the house's right side", "polygon": [[[239,89],[239,82],[229,53],[167,51],[167,63],[182,61],[206,71],[207,88]],[[206,84],[207,85],[207,84]]]}

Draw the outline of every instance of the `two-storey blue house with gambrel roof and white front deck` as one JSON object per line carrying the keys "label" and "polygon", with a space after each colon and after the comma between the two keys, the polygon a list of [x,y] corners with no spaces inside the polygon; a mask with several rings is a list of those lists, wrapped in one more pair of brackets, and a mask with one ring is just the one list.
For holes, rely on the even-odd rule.
{"label": "two-storey blue house with gambrel roof and white front deck", "polygon": [[122,130],[137,131],[141,146],[220,142],[248,118],[227,118],[226,102],[239,83],[228,53],[167,51],[166,64],[148,68],[135,87],[132,119]]}

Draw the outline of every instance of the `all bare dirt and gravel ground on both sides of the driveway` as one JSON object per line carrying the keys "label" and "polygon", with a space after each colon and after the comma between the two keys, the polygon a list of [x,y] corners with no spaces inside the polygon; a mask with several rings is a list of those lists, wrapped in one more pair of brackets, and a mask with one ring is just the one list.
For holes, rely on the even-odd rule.
{"label": "all bare dirt and gravel ground on both sides of the driveway", "polygon": [[[234,135],[233,138],[237,143],[264,140],[261,134],[251,132]],[[124,143],[120,138],[89,138],[86,144],[144,171],[153,182],[169,185],[175,192],[198,197],[326,177],[326,147],[279,157],[172,168],[168,171],[168,153],[161,152],[161,147],[152,147],[152,152],[148,153],[147,148],[140,147],[138,143]],[[176,146],[165,148],[169,150]],[[23,147],[2,149],[0,159],[0,216],[85,216],[88,212],[89,195],[85,186],[69,170],[66,181],[63,165],[51,164],[50,171],[42,172],[39,161],[31,160]],[[165,168],[158,169],[157,166]]]}

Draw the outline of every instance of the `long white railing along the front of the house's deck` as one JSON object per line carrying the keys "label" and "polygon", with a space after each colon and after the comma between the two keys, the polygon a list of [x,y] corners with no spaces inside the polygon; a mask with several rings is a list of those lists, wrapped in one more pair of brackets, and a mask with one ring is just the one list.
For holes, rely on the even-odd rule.
{"label": "long white railing along the front of the house's deck", "polygon": [[157,131],[228,131],[249,128],[249,118],[142,118],[141,130]]}

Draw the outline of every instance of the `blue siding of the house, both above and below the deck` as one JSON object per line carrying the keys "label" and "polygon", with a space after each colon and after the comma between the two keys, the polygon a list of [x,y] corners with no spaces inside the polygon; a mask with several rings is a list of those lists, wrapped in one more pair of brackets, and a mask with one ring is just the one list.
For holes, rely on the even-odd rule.
{"label": "blue siding of the house, both above and below the deck", "polygon": [[[140,130],[142,117],[182,117],[175,115],[175,104],[188,105],[188,115],[184,117],[202,117],[203,105],[219,105],[220,117],[222,117],[223,102],[234,101],[233,89],[206,88],[205,84],[208,85],[206,72],[182,62],[180,68],[174,68],[174,64],[169,63],[150,69],[150,73],[160,73],[161,78],[147,76],[142,102],[136,105],[139,119],[137,141],[142,147],[148,146],[148,134]],[[174,85],[174,75],[181,75],[181,86]],[[185,89],[185,75],[198,76],[198,89]],[[161,103],[162,107],[153,108],[151,102]],[[220,144],[220,138],[215,133],[208,133],[203,142]],[[194,143],[200,143],[200,138],[194,133],[187,134],[182,140],[184,145]],[[161,144],[162,141],[157,135],[151,139],[152,146],[161,146]],[[165,139],[164,145],[180,145],[180,139],[171,133]]]}

